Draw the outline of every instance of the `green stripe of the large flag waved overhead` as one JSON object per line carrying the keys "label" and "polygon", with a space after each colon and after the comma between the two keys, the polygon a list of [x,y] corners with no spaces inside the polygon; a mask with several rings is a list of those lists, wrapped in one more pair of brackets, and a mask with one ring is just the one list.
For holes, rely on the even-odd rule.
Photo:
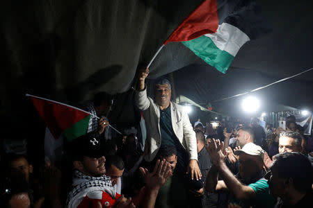
{"label": "green stripe of the large flag waved overhead", "polygon": [[182,42],[188,49],[191,49],[195,55],[198,55],[204,62],[207,62],[218,71],[225,73],[230,67],[234,56],[226,51],[218,49],[211,38],[202,35],[194,40]]}

